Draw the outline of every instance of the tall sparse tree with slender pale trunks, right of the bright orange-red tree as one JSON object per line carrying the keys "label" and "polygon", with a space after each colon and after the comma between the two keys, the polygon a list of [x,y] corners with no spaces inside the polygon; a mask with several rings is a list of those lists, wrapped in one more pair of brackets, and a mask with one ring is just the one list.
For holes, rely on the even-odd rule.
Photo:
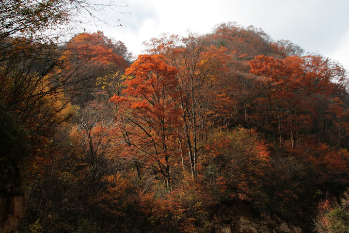
{"label": "tall sparse tree with slender pale trunks, right of the bright orange-red tree", "polygon": [[182,151],[188,151],[190,172],[195,177],[197,143],[207,133],[207,122],[213,115],[208,105],[214,97],[213,83],[224,68],[225,49],[211,46],[195,34],[184,38],[176,35],[154,38],[147,46],[150,52],[163,55],[163,60],[178,70],[175,79],[179,94],[174,103],[181,109],[184,122],[179,147],[182,148],[183,140]]}

